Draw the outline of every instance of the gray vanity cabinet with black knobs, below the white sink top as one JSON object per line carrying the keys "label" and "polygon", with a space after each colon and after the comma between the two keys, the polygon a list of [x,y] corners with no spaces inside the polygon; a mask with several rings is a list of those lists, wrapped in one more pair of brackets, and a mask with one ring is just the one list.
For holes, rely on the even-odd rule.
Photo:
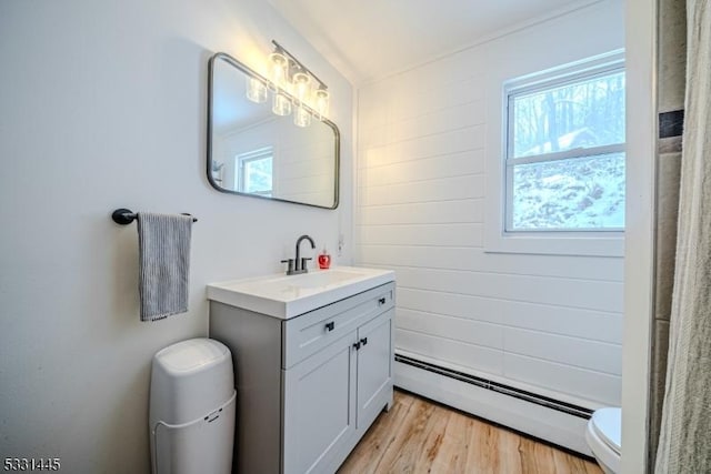
{"label": "gray vanity cabinet with black knobs, below the white sink top", "polygon": [[332,473],[392,404],[394,283],[282,320],[210,302],[232,351],[234,472]]}

